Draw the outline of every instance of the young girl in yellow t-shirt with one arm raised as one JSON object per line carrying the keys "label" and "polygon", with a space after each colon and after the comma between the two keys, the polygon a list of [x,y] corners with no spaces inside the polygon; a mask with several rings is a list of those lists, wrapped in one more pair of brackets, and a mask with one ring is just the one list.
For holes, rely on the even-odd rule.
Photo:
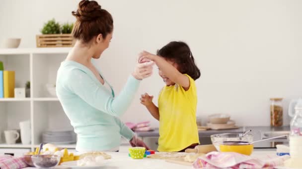
{"label": "young girl in yellow t-shirt with one arm raised", "polygon": [[195,80],[200,70],[185,42],[169,42],[157,55],[143,51],[141,62],[151,60],[166,84],[158,96],[158,107],[147,93],[141,103],[159,121],[158,151],[178,152],[199,144],[196,124],[197,93]]}

